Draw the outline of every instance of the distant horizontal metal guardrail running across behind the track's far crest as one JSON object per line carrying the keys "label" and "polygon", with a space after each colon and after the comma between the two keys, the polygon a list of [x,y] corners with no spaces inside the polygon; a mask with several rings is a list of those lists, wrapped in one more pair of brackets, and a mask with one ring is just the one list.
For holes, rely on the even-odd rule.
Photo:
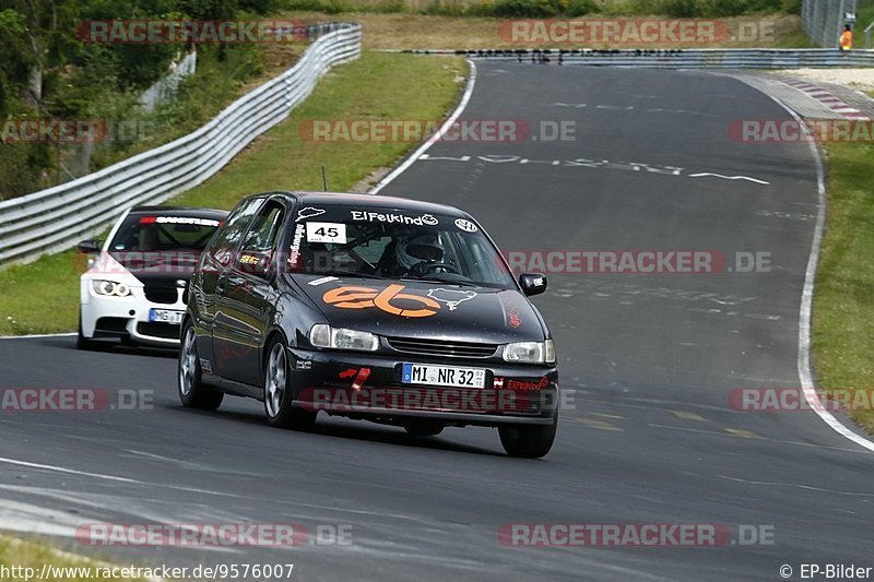
{"label": "distant horizontal metal guardrail running across behind the track's far crest", "polygon": [[471,49],[402,50],[416,55],[460,55],[471,59],[552,64],[646,67],[651,69],[828,69],[874,67],[874,50],[829,48],[760,49]]}

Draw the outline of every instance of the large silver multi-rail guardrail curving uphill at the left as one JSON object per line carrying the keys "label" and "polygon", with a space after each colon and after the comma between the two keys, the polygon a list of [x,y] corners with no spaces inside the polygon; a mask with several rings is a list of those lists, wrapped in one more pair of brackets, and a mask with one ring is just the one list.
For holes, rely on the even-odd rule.
{"label": "large silver multi-rail guardrail curving uphill at the left", "polygon": [[0,202],[0,266],[36,260],[99,233],[128,207],[160,203],[203,182],[283,121],[331,67],[361,54],[357,24],[320,24],[299,61],[199,130],[97,173]]}

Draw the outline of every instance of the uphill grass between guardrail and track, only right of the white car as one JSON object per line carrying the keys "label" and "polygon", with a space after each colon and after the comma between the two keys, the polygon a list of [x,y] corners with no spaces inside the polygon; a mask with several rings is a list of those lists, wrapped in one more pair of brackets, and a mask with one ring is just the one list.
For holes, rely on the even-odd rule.
{"label": "uphill grass between guardrail and track, only right of the white car", "polygon": [[206,183],[174,202],[232,207],[244,194],[270,189],[350,190],[379,168],[391,166],[412,143],[314,142],[314,120],[433,119],[453,108],[466,63],[460,58],[423,59],[412,55],[365,52],[331,71],[287,121],[260,138]]}

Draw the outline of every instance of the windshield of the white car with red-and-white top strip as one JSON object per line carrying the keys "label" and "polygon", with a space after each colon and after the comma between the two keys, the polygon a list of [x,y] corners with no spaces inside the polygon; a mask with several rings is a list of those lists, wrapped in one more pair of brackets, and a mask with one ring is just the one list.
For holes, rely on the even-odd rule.
{"label": "windshield of the white car with red-and-white top strip", "polygon": [[109,242],[109,252],[201,251],[220,224],[214,218],[131,214]]}

